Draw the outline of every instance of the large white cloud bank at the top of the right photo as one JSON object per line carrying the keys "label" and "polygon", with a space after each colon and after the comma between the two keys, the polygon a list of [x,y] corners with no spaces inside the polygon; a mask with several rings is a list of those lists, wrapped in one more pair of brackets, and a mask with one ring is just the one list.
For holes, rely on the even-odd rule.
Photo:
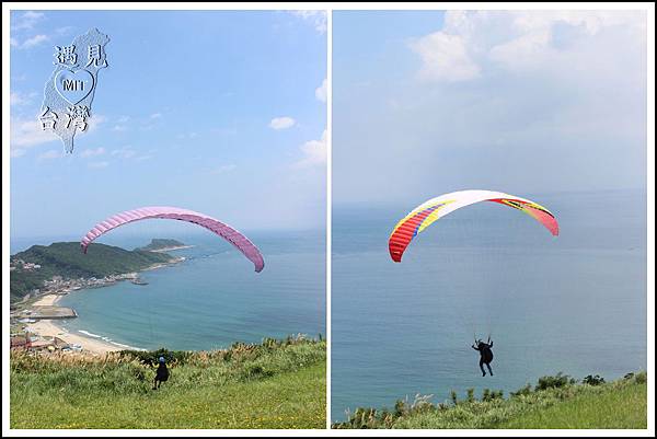
{"label": "large white cloud bank at the top of the right photo", "polygon": [[645,39],[645,16],[619,11],[448,11],[442,30],[410,47],[422,60],[420,78],[469,81],[499,68],[572,69],[589,39],[612,28]]}

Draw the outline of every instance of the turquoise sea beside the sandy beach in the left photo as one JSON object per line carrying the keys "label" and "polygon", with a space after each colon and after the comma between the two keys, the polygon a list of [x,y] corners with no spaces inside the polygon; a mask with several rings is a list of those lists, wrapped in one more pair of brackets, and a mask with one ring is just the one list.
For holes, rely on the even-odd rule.
{"label": "turquoise sea beside the sandy beach in the left photo", "polygon": [[[142,272],[145,286],[122,281],[71,292],[59,303],[76,309],[79,317],[62,326],[145,349],[214,349],[299,333],[325,336],[322,232],[250,233],[265,258],[260,274],[210,233],[165,236],[194,245],[171,252],[185,262]],[[134,249],[150,238],[117,231],[100,241]]]}

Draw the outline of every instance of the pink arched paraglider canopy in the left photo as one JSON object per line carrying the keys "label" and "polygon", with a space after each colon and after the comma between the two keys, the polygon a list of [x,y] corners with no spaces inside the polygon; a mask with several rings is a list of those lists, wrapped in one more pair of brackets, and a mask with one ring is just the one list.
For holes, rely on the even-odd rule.
{"label": "pink arched paraglider canopy in the left photo", "polygon": [[82,238],[80,246],[82,247],[82,251],[87,253],[87,247],[93,240],[112,229],[127,224],[128,222],[153,218],[187,221],[204,227],[234,245],[235,249],[242,252],[244,256],[255,265],[255,270],[257,273],[262,272],[265,267],[263,255],[249,238],[212,217],[193,210],[180,209],[177,207],[141,207],[139,209],[116,213],[95,224],[84,238]]}

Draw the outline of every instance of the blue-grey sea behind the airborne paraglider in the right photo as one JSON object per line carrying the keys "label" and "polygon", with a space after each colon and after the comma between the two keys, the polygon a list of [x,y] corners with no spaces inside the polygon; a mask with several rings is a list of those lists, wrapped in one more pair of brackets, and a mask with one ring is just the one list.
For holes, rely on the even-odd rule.
{"label": "blue-grey sea behind the airborne paraglider in the right photo", "polygon": [[[529,216],[480,204],[411,243],[388,236],[408,206],[334,207],[332,419],[399,398],[517,390],[544,374],[607,379],[645,369],[646,194],[526,194],[557,217],[553,238]],[[492,335],[482,378],[475,334]]]}

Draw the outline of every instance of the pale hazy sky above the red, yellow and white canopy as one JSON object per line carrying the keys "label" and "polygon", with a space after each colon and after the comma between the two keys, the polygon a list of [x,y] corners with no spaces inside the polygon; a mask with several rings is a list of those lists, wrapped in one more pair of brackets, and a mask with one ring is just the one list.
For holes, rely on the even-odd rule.
{"label": "pale hazy sky above the red, yellow and white canopy", "polygon": [[646,15],[335,11],[333,204],[646,187]]}

